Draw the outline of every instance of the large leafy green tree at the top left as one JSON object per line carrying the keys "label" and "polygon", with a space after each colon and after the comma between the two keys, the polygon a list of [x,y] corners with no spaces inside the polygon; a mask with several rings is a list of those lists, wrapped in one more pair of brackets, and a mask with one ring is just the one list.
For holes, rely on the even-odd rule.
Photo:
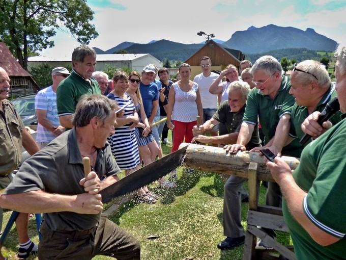
{"label": "large leafy green tree at the top left", "polygon": [[3,0],[0,17],[0,38],[24,69],[28,54],[54,46],[49,38],[59,28],[67,29],[81,44],[98,36],[86,0]]}

